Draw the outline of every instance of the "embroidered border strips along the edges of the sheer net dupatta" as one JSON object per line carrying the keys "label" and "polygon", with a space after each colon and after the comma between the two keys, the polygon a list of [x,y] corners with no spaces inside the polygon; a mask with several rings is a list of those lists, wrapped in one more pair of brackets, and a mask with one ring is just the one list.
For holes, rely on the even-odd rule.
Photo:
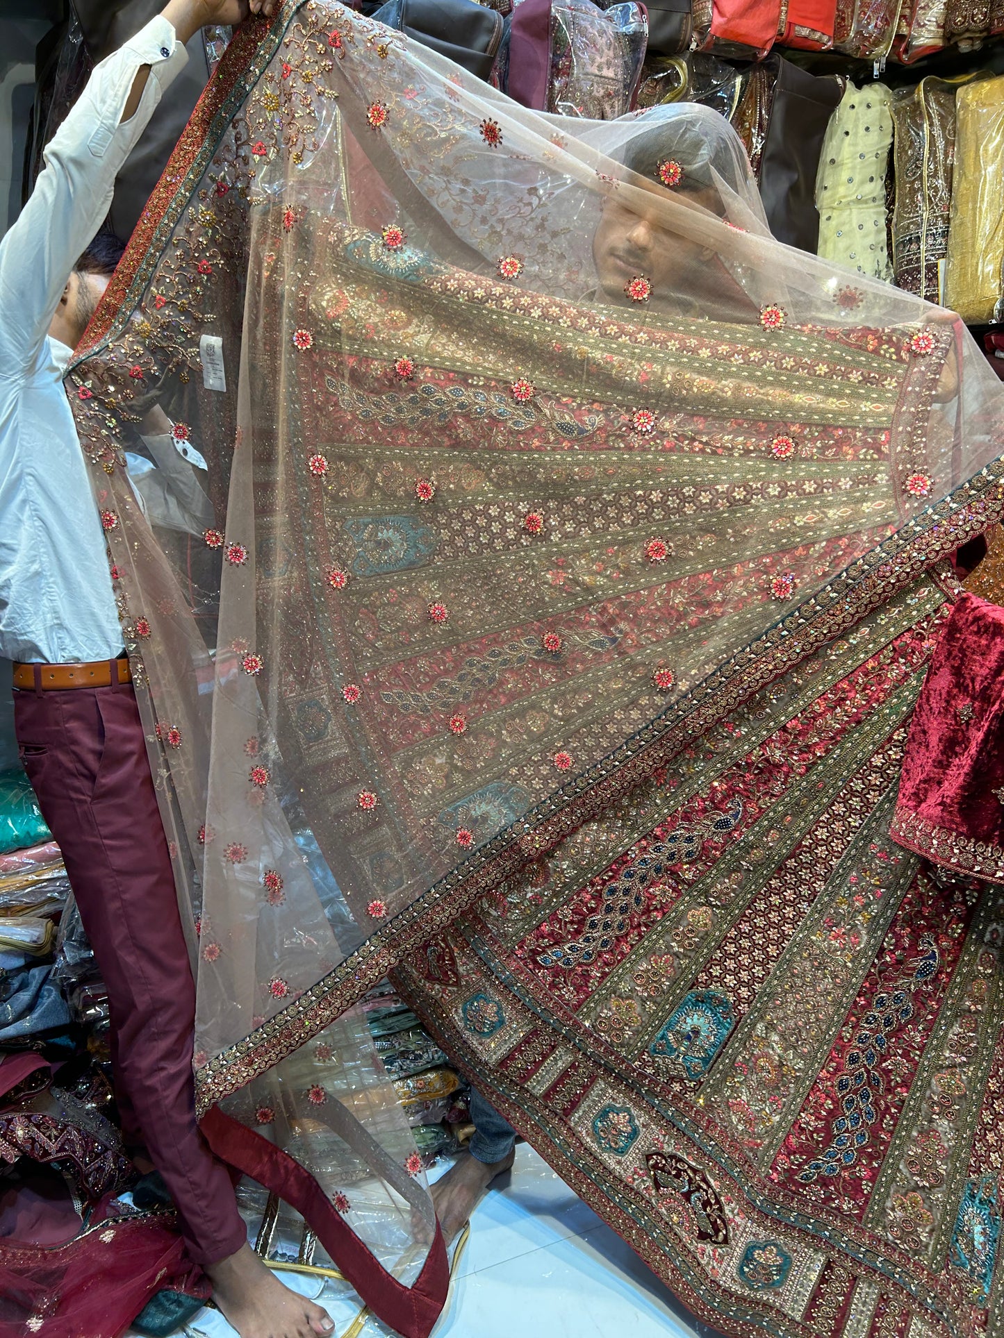
{"label": "embroidered border strips along the edges of the sheer net dupatta", "polygon": [[[274,58],[305,3],[286,0],[270,23],[252,19],[236,33],[150,197],[70,371],[118,330],[131,310],[131,300],[149,285],[159,252],[187,207],[234,112]],[[382,925],[360,949],[289,1008],[207,1061],[197,1072],[199,1115],[324,1030],[418,943],[440,933],[523,862],[554,847],[617,795],[633,788],[653,767],[669,761],[740,702],[853,628],[892,594],[1000,520],[1003,514],[1004,462],[997,460],[937,506],[908,520],[608,757],[499,832],[410,907]]]}

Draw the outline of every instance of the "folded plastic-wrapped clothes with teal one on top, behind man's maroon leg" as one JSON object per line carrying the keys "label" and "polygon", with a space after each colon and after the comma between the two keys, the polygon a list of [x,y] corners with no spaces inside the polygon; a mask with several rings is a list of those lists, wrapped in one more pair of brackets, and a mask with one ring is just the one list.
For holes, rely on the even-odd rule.
{"label": "folded plastic-wrapped clothes with teal one on top, behind man's maroon leg", "polygon": [[59,847],[24,772],[0,773],[0,1052],[66,1056],[70,1009],[54,978],[56,927],[67,896]]}

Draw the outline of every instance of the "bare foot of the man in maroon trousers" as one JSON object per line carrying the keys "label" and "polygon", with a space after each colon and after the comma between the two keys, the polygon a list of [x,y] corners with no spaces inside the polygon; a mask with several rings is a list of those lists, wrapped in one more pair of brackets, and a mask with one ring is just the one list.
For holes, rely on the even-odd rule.
{"label": "bare foot of the man in maroon trousers", "polygon": [[205,1271],[213,1301],[241,1338],[324,1338],[335,1331],[327,1313],[284,1287],[250,1246]]}

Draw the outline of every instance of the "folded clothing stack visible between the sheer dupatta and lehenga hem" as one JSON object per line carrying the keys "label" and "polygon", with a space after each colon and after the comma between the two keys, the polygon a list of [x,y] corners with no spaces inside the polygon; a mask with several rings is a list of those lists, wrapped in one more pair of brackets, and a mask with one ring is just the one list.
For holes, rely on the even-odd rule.
{"label": "folded clothing stack visible between the sheer dupatta and lehenga hem", "polygon": [[466,1084],[390,981],[375,986],[361,1008],[423,1160],[455,1151],[469,1121]]}

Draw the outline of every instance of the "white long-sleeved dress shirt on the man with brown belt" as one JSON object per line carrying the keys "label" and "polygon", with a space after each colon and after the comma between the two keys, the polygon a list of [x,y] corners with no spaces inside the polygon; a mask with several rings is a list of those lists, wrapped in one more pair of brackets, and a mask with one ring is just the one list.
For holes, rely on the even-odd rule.
{"label": "white long-sleeved dress shirt on the man with brown belt", "polygon": [[[123,637],[88,466],[48,336],[80,253],[111,205],[115,177],[187,56],[153,19],[95,67],[48,147],[31,199],[0,241],[0,657],[107,660]],[[135,115],[120,124],[137,72]]]}

